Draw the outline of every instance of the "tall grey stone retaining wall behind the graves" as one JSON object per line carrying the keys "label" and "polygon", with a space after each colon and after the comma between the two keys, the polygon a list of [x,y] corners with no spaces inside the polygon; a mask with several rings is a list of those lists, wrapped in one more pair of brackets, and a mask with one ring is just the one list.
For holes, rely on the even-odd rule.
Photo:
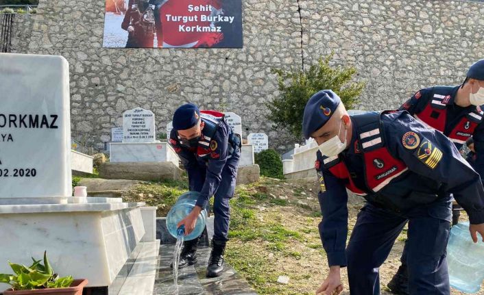
{"label": "tall grey stone retaining wall behind the graves", "polygon": [[397,107],[420,88],[463,81],[484,57],[483,14],[475,1],[244,0],[243,49],[104,49],[103,0],[40,0],[36,16],[16,18],[14,51],[69,60],[72,135],[98,149],[125,110],[152,110],[162,131],[192,101],[236,112],[244,138],[263,131],[285,151],[293,142],[266,120],[279,95],[271,68],[307,68],[334,51],[334,65],[367,82],[357,108]]}

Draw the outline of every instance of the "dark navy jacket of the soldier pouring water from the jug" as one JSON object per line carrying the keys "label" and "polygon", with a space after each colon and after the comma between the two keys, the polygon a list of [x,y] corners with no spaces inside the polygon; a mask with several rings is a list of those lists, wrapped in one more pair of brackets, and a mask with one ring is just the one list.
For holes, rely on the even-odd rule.
{"label": "dark navy jacket of the soldier pouring water from the jug", "polygon": [[[233,135],[232,128],[224,120],[221,120],[215,128],[215,133],[209,128],[213,127],[213,120],[207,120],[203,114],[201,120],[205,123],[205,127],[202,129],[197,149],[182,145],[176,129],[171,130],[170,144],[189,175],[190,190],[200,192],[196,205],[205,208],[210,197],[219,188],[222,170],[228,164],[228,159],[232,153],[240,153],[240,141],[233,142],[233,138],[236,137]],[[237,170],[237,167],[230,165],[229,168]],[[237,175],[237,171],[232,171],[232,175]]]}

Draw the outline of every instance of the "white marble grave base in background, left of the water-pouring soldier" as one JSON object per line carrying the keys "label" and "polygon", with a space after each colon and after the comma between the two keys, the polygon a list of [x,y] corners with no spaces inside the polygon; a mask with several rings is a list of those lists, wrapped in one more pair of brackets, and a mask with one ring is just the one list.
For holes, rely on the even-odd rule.
{"label": "white marble grave base in background, left of the water-pouring soldier", "polygon": [[111,143],[110,162],[173,162],[178,167],[178,156],[167,142]]}

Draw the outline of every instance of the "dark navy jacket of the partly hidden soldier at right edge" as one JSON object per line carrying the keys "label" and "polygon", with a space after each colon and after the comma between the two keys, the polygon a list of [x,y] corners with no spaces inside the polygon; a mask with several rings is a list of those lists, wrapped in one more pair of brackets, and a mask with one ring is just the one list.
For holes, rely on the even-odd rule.
{"label": "dark navy jacket of the partly hidden soldier at right edge", "polygon": [[[449,136],[452,129],[455,129],[462,118],[468,116],[470,113],[476,110],[476,106],[470,105],[469,107],[459,107],[455,104],[455,97],[457,95],[457,90],[461,86],[449,87],[449,86],[437,86],[432,88],[424,88],[417,93],[413,94],[413,97],[406,101],[400,110],[407,110],[412,116],[422,120],[431,127],[439,130],[435,125],[433,125],[427,118],[422,118],[422,112],[424,111],[426,105],[435,100],[434,92],[437,91],[441,96],[448,96],[448,101],[446,101],[446,119],[444,123],[444,130],[440,130],[446,136]],[[438,101],[439,99],[437,99]],[[479,112],[477,113],[479,116]],[[475,115],[474,115],[475,116]],[[437,118],[438,120],[439,118]],[[466,132],[465,128],[460,128],[461,132]],[[472,167],[484,178],[484,120],[481,120],[479,125],[470,133],[470,136],[474,139],[474,146],[476,149],[477,157],[474,160],[474,165]],[[452,139],[451,139],[452,140]],[[457,149],[461,149],[465,140],[456,142],[452,140]]]}

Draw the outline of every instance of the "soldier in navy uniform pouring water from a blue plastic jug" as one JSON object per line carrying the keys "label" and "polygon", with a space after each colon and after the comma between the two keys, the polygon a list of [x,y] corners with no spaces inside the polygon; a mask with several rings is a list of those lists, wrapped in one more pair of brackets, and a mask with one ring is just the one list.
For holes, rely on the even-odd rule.
{"label": "soldier in navy uniform pouring water from a blue plastic jug", "polygon": [[[189,175],[190,190],[200,192],[195,208],[178,227],[184,225],[188,235],[195,228],[197,216],[213,203],[214,236],[208,261],[207,277],[219,277],[223,270],[223,253],[228,241],[230,218],[229,199],[234,195],[241,139],[216,111],[200,111],[191,103],[179,107],[173,114],[170,144],[176,151]],[[197,262],[199,238],[184,242],[179,268]]]}

